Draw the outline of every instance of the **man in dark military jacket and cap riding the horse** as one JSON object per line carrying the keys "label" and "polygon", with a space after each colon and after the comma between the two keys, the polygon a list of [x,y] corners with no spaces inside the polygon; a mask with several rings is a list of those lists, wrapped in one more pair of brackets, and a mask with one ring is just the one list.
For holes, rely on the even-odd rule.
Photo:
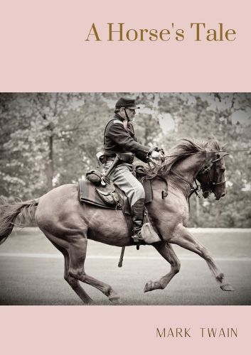
{"label": "man in dark military jacket and cap riding the horse", "polygon": [[[139,109],[134,99],[121,97],[114,110],[114,119],[110,120],[105,127],[104,153],[106,155],[105,170],[110,168],[117,153],[128,153],[126,159],[119,160],[119,165],[112,170],[111,180],[127,195],[132,210],[132,221],[134,224],[134,242],[142,240],[141,226],[144,220],[144,187],[132,174],[132,162],[134,155],[147,163],[149,157],[156,160],[164,158],[164,152],[159,148],[142,146],[137,142],[132,126],[132,119]],[[120,156],[119,156],[120,158]],[[127,160],[127,161],[125,161]]]}

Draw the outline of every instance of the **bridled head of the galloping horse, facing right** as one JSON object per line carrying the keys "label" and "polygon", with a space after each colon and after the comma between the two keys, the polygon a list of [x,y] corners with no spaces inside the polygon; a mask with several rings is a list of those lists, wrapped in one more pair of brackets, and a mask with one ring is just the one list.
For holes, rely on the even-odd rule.
{"label": "bridled head of the galloping horse, facing right", "polygon": [[222,151],[217,141],[213,141],[210,150],[212,153],[208,152],[206,154],[206,162],[196,179],[201,184],[204,198],[207,198],[208,195],[213,192],[215,199],[220,200],[220,197],[225,196],[226,193],[224,157],[228,155],[228,153],[213,153],[214,151]]}

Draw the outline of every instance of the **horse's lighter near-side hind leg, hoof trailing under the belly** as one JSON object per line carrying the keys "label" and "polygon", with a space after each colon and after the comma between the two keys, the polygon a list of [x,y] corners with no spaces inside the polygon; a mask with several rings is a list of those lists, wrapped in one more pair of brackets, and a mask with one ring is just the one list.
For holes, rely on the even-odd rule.
{"label": "horse's lighter near-side hind leg, hoof trailing under the belly", "polygon": [[100,280],[92,278],[85,273],[85,256],[87,249],[87,238],[75,237],[74,241],[69,244],[69,275],[73,278],[92,285],[106,295],[110,302],[117,304],[119,302],[119,295],[112,289],[110,285],[103,283]]}

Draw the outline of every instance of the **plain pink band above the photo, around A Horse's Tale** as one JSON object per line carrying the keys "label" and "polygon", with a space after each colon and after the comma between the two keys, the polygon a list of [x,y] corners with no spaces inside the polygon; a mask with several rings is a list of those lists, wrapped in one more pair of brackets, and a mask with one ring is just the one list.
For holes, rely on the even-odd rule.
{"label": "plain pink band above the photo, around A Horse's Tale", "polygon": [[[198,92],[250,90],[250,1],[0,0],[0,90]],[[86,42],[92,22],[102,42]],[[107,42],[107,23],[170,28],[186,40]],[[234,42],[195,42],[191,22],[235,28]]]}

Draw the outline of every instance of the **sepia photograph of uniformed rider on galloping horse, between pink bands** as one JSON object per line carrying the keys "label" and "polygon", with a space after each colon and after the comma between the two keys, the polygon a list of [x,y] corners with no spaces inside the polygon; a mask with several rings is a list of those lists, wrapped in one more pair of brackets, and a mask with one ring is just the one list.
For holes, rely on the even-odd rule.
{"label": "sepia photograph of uniformed rider on galloping horse, between pink bands", "polygon": [[251,305],[250,93],[1,93],[0,305]]}

